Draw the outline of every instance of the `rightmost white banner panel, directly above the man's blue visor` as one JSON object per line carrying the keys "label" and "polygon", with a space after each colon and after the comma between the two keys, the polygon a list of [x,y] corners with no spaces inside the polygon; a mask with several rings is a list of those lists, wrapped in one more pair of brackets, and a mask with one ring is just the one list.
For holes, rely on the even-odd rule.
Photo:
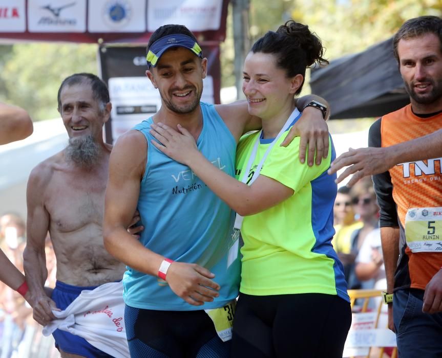
{"label": "rightmost white banner panel, directly above the man's blue visor", "polygon": [[148,0],[148,31],[167,24],[186,26],[191,31],[218,30],[222,0]]}

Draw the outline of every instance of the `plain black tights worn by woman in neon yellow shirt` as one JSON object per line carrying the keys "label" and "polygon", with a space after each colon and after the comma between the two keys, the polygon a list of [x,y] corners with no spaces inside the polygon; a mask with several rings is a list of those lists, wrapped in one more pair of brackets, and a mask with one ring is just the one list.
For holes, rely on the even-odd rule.
{"label": "plain black tights worn by woman in neon yellow shirt", "polygon": [[350,324],[350,303],[338,296],[240,294],[231,356],[341,358]]}

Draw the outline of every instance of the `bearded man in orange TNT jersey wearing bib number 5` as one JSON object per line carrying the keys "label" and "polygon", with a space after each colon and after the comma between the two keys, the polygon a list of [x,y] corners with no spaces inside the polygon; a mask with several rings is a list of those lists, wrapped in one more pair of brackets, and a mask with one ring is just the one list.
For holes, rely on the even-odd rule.
{"label": "bearded man in orange TNT jersey wearing bib number 5", "polygon": [[[413,18],[394,55],[411,104],[370,128],[370,147],[390,147],[442,128],[442,19]],[[430,158],[434,158],[430,156]],[[373,176],[387,277],[389,327],[399,356],[442,356],[442,158],[407,162]]]}

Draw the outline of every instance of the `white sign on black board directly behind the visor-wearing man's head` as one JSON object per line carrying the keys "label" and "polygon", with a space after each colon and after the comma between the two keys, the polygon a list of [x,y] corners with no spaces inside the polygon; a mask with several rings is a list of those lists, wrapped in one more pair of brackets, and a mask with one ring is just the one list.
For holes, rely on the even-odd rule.
{"label": "white sign on black board directly behind the visor-wearing man's head", "polygon": [[[203,79],[201,101],[214,103],[213,78]],[[109,79],[112,102],[112,138],[115,141],[136,124],[148,119],[161,108],[158,89],[147,77],[114,77]]]}

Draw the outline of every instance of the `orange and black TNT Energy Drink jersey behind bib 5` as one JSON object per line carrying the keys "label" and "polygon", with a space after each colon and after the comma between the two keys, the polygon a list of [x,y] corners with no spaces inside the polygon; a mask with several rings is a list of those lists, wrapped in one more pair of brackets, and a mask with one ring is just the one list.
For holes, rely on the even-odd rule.
{"label": "orange and black TNT Energy Drink jersey behind bib 5", "polygon": [[[442,128],[442,114],[420,118],[413,114],[411,105],[407,105],[383,116],[382,146],[388,147],[406,142],[440,128]],[[435,158],[430,161],[403,163],[389,170],[393,184],[393,199],[402,224],[401,243],[405,243],[405,215],[409,208],[442,207],[441,161],[442,158]],[[425,289],[427,283],[442,266],[442,253],[413,253],[406,245],[405,254],[408,256],[410,287]]]}

